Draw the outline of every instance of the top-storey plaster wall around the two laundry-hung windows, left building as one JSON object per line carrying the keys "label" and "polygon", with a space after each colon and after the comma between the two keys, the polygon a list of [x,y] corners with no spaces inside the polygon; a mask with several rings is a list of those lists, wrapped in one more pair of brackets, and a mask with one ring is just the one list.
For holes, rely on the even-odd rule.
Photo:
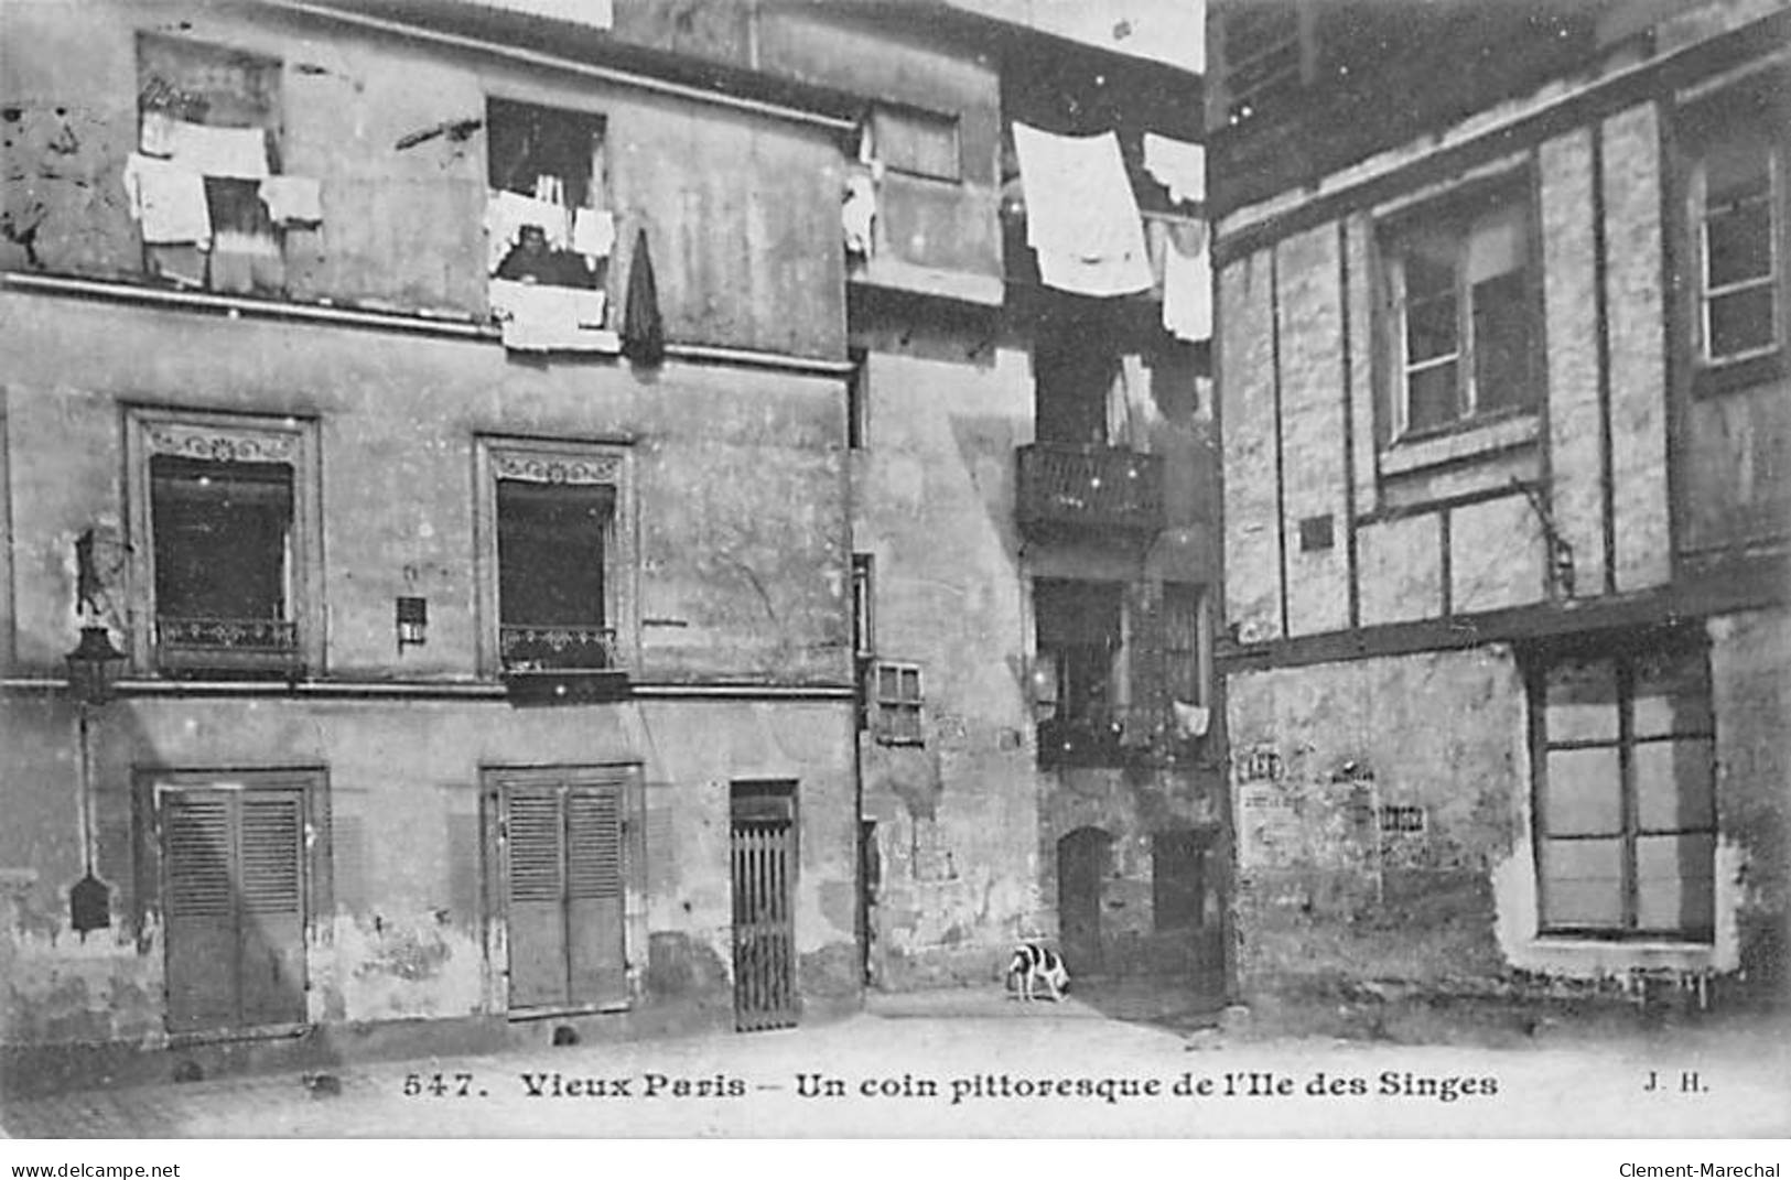
{"label": "top-storey plaster wall around the two laundry-hung windows, left building", "polygon": [[134,38],[152,30],[281,59],[281,168],[321,179],[324,208],[321,229],[287,235],[296,299],[485,315],[484,131],[396,143],[482,120],[498,95],[604,116],[613,301],[645,227],[672,340],[844,355],[842,156],[824,129],[183,0],[9,5],[4,29],[0,267],[141,270],[120,175],[136,143]]}

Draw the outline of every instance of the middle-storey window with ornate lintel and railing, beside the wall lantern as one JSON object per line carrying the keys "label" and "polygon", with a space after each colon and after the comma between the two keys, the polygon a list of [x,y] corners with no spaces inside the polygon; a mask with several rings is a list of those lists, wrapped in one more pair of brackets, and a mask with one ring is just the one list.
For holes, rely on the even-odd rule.
{"label": "middle-storey window with ornate lintel and railing, beside the wall lantern", "polygon": [[131,432],[147,537],[145,664],[170,675],[301,675],[321,655],[310,424],[141,412]]}

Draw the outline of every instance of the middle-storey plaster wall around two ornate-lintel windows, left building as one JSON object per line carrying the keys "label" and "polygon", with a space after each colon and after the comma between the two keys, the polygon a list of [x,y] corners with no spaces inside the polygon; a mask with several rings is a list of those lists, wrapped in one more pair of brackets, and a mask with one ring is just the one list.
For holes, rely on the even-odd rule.
{"label": "middle-storey plaster wall around two ornate-lintel windows, left building", "polygon": [[[18,670],[73,646],[73,537],[124,517],[122,403],[317,417],[330,673],[473,675],[473,440],[634,439],[641,679],[845,684],[840,383],[516,363],[489,342],[0,295]],[[177,340],[179,347],[168,347]],[[396,650],[392,598],[430,600]]]}

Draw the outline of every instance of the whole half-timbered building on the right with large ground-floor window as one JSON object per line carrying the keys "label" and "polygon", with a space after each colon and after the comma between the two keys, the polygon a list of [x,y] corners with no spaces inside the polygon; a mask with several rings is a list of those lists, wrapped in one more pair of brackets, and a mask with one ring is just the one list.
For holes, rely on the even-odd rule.
{"label": "whole half-timbered building on the right with large ground-floor window", "polygon": [[1245,992],[1784,994],[1787,20],[1213,5]]}

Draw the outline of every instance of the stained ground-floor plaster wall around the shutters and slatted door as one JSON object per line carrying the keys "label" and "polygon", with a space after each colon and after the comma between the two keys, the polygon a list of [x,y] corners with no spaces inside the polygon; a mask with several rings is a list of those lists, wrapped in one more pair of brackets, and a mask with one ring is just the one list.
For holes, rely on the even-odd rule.
{"label": "stained ground-floor plaster wall around the shutters and slatted door", "polygon": [[[503,1012],[505,942],[485,892],[480,772],[521,765],[643,765],[648,901],[645,922],[629,931],[634,992],[720,1008],[731,1003],[733,958],[729,782],[795,781],[804,996],[856,992],[849,971],[827,967],[853,962],[856,815],[844,704],[116,702],[93,723],[95,870],[113,886],[113,926],[84,940],[66,928],[66,888],[81,876],[79,777],[61,756],[70,709],[9,697],[0,725],[7,748],[27,757],[0,777],[7,813],[36,817],[0,834],[7,1044],[161,1035],[163,945],[154,897],[136,894],[133,849],[143,836],[133,774],[150,766],[328,770],[331,831],[321,838],[335,908],[313,915],[313,1021]],[[668,971],[668,947],[682,976]],[[709,971],[691,974],[693,962]]]}

